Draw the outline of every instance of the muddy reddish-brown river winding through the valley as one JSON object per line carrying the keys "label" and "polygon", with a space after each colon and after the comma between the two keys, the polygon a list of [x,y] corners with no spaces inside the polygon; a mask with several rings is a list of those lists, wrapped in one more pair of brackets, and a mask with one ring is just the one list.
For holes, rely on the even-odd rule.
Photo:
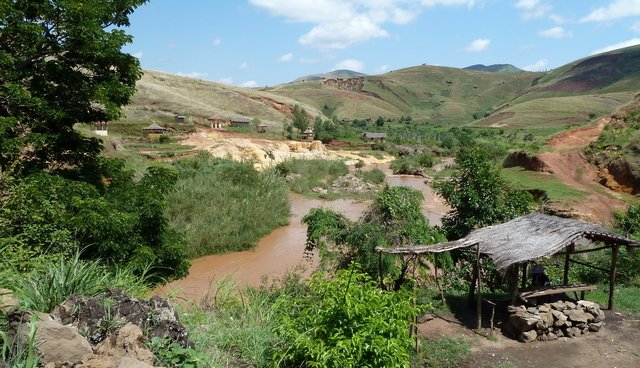
{"label": "muddy reddish-brown river winding through the valley", "polygon": [[[407,186],[422,191],[425,201],[422,211],[432,225],[439,225],[440,218],[447,212],[442,200],[434,195],[424,183],[424,178],[408,175],[392,175],[386,168],[387,183],[393,186]],[[258,242],[254,250],[223,255],[206,256],[193,260],[189,275],[158,290],[166,295],[170,291],[186,299],[199,299],[207,291],[215,289],[218,280],[231,278],[238,284],[258,285],[264,277],[277,278],[287,270],[302,267],[308,274],[317,265],[316,259],[304,258],[306,226],[301,221],[310,209],[327,207],[344,213],[350,219],[357,219],[369,202],[339,199],[327,201],[309,199],[291,194],[291,219],[289,225],[275,229]]]}

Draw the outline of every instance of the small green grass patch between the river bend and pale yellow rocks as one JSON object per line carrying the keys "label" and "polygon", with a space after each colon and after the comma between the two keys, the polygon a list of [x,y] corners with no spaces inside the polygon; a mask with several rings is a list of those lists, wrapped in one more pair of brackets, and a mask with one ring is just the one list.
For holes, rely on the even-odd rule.
{"label": "small green grass patch between the river bend and pale yellow rocks", "polygon": [[336,160],[292,159],[276,165],[276,172],[287,179],[291,191],[309,194],[316,187],[328,189],[336,178],[348,174],[349,168]]}

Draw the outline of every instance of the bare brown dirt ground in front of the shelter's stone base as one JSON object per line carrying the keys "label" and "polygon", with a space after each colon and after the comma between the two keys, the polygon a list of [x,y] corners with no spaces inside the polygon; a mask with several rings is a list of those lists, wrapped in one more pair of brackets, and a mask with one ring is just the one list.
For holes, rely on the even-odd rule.
{"label": "bare brown dirt ground in front of the shelter's stone base", "polygon": [[524,344],[503,337],[491,341],[452,317],[436,318],[419,326],[428,338],[464,337],[471,354],[462,367],[578,368],[640,367],[640,321],[605,311],[605,326],[597,333],[556,341]]}

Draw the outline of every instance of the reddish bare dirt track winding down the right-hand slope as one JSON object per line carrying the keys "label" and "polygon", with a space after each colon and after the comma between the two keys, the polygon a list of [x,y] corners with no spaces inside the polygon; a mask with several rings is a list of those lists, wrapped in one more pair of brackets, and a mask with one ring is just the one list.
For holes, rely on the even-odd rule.
{"label": "reddish bare dirt track winding down the right-hand slope", "polygon": [[609,122],[611,118],[605,117],[594,126],[560,133],[548,143],[552,152],[537,155],[553,175],[565,184],[587,193],[584,199],[569,203],[572,211],[585,220],[604,224],[611,223],[613,211],[623,209],[625,202],[618,193],[598,183],[596,169],[581,150],[598,139]]}

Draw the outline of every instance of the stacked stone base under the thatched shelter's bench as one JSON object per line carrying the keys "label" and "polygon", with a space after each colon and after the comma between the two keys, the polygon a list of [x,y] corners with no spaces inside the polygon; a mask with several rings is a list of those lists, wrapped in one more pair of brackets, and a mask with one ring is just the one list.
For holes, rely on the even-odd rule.
{"label": "stacked stone base under the thatched shelter's bench", "polygon": [[557,301],[535,307],[509,307],[503,329],[521,342],[551,341],[598,332],[604,325],[604,312],[589,301]]}

